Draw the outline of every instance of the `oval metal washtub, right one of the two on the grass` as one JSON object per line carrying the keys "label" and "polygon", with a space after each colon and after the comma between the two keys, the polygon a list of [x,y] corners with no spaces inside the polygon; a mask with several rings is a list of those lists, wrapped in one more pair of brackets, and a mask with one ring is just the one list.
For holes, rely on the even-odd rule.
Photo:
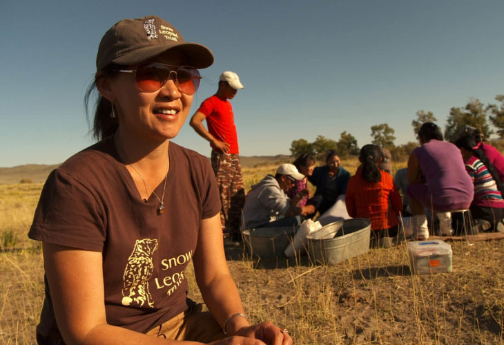
{"label": "oval metal washtub, right one of the two on the grass", "polygon": [[370,238],[371,221],[366,218],[330,223],[307,235],[311,259],[327,265],[366,254]]}

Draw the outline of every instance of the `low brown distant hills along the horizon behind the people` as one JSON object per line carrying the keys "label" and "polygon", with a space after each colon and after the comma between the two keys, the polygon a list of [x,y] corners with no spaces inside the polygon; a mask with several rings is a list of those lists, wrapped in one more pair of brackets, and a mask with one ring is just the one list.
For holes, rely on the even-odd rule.
{"label": "low brown distant hills along the horizon behind the people", "polygon": [[[260,167],[261,165],[276,165],[284,162],[290,162],[292,159],[287,155],[277,156],[249,156],[241,157],[242,167]],[[59,164],[26,164],[17,167],[0,167],[0,185],[12,185],[14,183],[24,182],[43,183],[53,169],[59,167]]]}

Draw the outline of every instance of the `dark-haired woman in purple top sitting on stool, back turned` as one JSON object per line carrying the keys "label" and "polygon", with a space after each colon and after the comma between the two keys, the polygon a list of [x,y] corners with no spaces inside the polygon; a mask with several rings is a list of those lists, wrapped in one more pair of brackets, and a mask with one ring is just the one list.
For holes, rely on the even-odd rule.
{"label": "dark-haired woman in purple top sitting on stool, back turned", "polygon": [[426,122],[418,131],[420,146],[408,160],[408,203],[411,208],[414,239],[429,238],[424,209],[437,213],[441,234],[449,234],[450,213],[467,209],[474,188],[461,152],[454,144],[443,142],[439,127]]}

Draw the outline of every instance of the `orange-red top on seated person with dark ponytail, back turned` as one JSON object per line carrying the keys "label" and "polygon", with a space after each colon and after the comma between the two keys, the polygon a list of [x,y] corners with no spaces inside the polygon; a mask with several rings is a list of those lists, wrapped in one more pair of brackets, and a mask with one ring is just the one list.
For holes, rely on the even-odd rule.
{"label": "orange-red top on seated person with dark ponytail, back turned", "polygon": [[358,169],[349,179],[345,195],[348,214],[353,218],[368,218],[371,230],[398,225],[398,215],[403,207],[392,176],[385,171],[380,172],[380,182],[368,182],[362,178],[362,169]]}

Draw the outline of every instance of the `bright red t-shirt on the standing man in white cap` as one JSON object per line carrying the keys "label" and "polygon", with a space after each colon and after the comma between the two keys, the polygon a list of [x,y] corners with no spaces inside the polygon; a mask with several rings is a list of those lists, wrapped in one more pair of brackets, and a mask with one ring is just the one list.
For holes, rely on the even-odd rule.
{"label": "bright red t-shirt on the standing man in white cap", "polygon": [[[206,126],[211,135],[217,140],[227,142],[229,144],[229,153],[239,154],[235,116],[233,115],[231,102],[213,95],[204,100],[197,111],[205,115]],[[210,146],[215,151],[220,151],[215,145],[210,144]]]}

